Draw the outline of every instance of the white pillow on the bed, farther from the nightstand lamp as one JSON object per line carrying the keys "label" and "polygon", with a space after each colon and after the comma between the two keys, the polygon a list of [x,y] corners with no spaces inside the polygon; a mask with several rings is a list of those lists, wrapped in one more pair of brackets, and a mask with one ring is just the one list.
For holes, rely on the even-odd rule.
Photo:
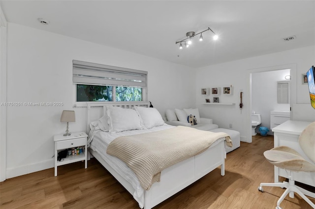
{"label": "white pillow on the bed, farther from the nightstand lamp", "polygon": [[151,129],[156,126],[163,126],[165,124],[161,114],[154,107],[134,106],[134,109],[139,114],[143,125],[147,129]]}

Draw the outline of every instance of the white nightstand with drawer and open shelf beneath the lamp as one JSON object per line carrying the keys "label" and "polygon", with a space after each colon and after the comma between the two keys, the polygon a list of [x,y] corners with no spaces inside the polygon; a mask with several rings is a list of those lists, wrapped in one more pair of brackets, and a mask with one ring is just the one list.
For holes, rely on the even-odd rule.
{"label": "white nightstand with drawer and open shelf beneath the lamp", "polygon": [[[85,168],[88,167],[88,135],[85,132],[71,133],[69,136],[63,134],[54,135],[55,141],[55,176],[57,176],[57,167],[60,165],[69,164],[85,160]],[[84,152],[80,155],[67,155],[62,161],[58,161],[58,152],[65,149],[83,147]]]}

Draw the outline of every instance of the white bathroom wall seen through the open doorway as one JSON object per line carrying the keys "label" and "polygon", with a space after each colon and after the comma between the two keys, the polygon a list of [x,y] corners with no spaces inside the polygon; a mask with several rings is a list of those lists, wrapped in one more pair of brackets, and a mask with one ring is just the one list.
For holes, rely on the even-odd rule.
{"label": "white bathroom wall seen through the open doorway", "polygon": [[290,75],[289,69],[252,73],[252,111],[261,115],[257,133],[260,126],[270,129],[270,111],[290,111],[290,104],[278,104],[277,101],[277,81],[284,80],[286,75]]}

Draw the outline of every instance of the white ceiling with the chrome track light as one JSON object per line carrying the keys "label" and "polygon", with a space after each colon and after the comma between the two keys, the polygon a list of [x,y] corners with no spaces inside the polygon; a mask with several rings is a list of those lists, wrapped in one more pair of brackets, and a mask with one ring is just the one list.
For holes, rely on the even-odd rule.
{"label": "white ceiling with the chrome track light", "polygon": [[[193,68],[315,44],[315,1],[1,0],[7,22]],[[48,20],[49,25],[38,22]],[[203,33],[189,48],[176,41]],[[296,36],[284,41],[283,38]]]}

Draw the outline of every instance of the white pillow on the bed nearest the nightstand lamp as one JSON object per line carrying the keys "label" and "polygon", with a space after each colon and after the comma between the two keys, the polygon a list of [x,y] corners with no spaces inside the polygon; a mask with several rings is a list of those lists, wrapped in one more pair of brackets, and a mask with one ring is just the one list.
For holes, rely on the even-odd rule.
{"label": "white pillow on the bed nearest the nightstand lamp", "polygon": [[142,129],[140,117],[134,109],[110,107],[107,115],[109,132]]}

